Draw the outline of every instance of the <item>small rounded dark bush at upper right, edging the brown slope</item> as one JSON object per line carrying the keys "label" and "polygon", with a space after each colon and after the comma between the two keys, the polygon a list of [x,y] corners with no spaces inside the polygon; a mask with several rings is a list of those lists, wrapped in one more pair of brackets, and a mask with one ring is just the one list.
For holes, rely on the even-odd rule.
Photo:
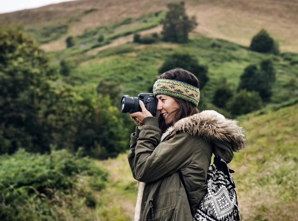
{"label": "small rounded dark bush at upper right, edging the brown slope", "polygon": [[260,30],[251,40],[249,48],[255,52],[279,54],[278,43],[265,29]]}

